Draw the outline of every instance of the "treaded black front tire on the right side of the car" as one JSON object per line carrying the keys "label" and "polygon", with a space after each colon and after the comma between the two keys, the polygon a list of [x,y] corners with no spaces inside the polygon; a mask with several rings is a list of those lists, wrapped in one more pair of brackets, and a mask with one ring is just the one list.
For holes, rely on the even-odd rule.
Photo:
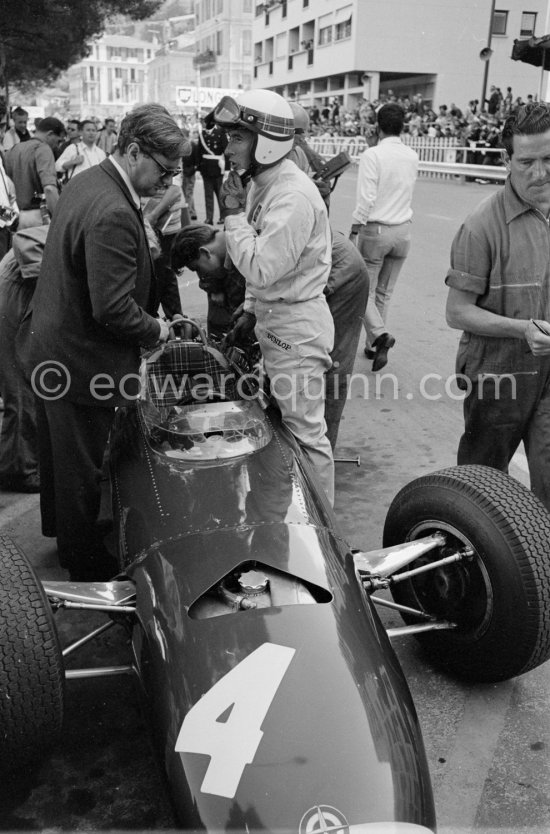
{"label": "treaded black front tire on the right side of the car", "polygon": [[[447,547],[409,565],[471,548],[473,557],[392,586],[394,600],[452,630],[417,635],[445,669],[478,681],[528,672],[550,656],[550,515],[533,493],[485,466],[456,466],[394,498],[384,546],[442,531]],[[418,622],[404,615],[408,623]]]}

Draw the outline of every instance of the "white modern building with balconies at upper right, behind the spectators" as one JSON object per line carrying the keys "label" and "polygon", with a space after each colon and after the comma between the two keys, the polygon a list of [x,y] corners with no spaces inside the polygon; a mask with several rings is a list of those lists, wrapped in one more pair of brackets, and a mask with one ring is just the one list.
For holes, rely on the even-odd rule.
{"label": "white modern building with balconies at upper right, behind the spectators", "polygon": [[[433,107],[488,95],[547,98],[548,73],[511,59],[548,33],[548,0],[255,0],[254,87],[302,104],[421,94]],[[485,50],[485,51],[484,51]],[[487,60],[489,58],[489,60]]]}

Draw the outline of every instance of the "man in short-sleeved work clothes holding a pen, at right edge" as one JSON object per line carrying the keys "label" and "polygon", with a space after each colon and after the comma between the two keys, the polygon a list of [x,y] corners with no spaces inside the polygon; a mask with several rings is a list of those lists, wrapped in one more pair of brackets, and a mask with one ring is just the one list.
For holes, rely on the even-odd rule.
{"label": "man in short-sleeved work clothes holding a pen, at right edge", "polygon": [[550,511],[550,105],[506,119],[504,188],[453,241],[447,323],[464,399],[457,462],[503,472],[523,442],[531,489]]}

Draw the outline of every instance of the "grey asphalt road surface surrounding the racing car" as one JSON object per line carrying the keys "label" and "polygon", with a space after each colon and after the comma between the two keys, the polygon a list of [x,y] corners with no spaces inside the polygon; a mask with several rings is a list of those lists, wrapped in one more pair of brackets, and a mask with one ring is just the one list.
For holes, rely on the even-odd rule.
{"label": "grey asphalt road surface surrounding the racing car", "polygon": [[[392,497],[420,474],[455,463],[462,428],[452,385],[458,333],[444,320],[444,276],[452,237],[467,212],[499,186],[421,180],[415,194],[413,246],[394,294],[389,329],[396,346],[383,374],[358,354],[352,397],[341,425],[336,513],[354,547],[381,543]],[[333,194],[331,220],[347,232],[355,180],[347,172]],[[200,183],[197,184],[198,205]],[[201,214],[199,212],[199,217]],[[181,282],[184,305],[205,314],[192,273]],[[524,483],[525,458],[512,474]],[[62,578],[51,540],[39,532],[38,499],[0,493],[0,532],[10,534],[44,578]],[[59,617],[62,637],[83,632],[89,614]],[[76,623],[76,625],[75,625]],[[124,660],[128,644],[109,632],[78,665]],[[395,644],[424,733],[439,830],[550,831],[550,664],[491,686],[457,682],[432,668],[412,638]],[[61,743],[45,761],[0,785],[0,830],[166,830],[170,804],[130,679],[69,682]]]}

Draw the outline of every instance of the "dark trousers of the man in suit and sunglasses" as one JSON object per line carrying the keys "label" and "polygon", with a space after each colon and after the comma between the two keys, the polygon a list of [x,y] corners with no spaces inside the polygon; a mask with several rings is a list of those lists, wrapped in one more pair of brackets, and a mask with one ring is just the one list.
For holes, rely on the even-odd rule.
{"label": "dark trousers of the man in suit and sunglasses", "polygon": [[116,573],[98,524],[101,476],[114,408],[37,397],[42,532],[57,536],[59,563],[72,578]]}

